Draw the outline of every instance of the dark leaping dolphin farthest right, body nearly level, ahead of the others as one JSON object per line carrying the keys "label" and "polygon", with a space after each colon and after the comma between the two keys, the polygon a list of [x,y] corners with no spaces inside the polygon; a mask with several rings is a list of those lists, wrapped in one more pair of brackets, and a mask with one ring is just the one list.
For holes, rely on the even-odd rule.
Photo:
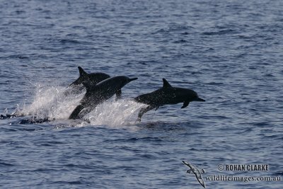
{"label": "dark leaping dolphin farthest right, body nearly level, ahead of the others", "polygon": [[157,110],[159,106],[162,105],[183,103],[181,108],[186,108],[192,101],[204,102],[205,100],[200,98],[195,91],[187,88],[173,87],[166,79],[163,79],[163,87],[151,93],[137,96],[134,98],[134,101],[148,105],[139,110],[137,121],[141,121],[141,117],[144,113],[154,108]]}

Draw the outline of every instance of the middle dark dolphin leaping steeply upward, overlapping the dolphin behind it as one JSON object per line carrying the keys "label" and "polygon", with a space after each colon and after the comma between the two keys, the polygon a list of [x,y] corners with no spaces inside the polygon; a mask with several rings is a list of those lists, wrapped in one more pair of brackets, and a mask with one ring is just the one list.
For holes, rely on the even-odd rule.
{"label": "middle dark dolphin leaping steeply upward, overlapping the dolphin behind it", "polygon": [[[91,112],[100,103],[111,98],[115,93],[119,93],[121,88],[137,78],[129,79],[127,76],[114,76],[103,81],[100,81],[95,86],[91,83],[84,83],[86,94],[81,99],[80,103],[69,116],[69,119],[82,118],[83,115]],[[81,111],[84,110],[83,113]]]}

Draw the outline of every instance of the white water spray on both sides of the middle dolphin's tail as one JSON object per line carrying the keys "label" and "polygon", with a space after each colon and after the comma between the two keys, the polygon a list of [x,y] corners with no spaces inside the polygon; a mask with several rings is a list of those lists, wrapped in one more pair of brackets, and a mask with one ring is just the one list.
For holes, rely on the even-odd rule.
{"label": "white water spray on both sides of the middle dolphin's tail", "polygon": [[[63,86],[42,86],[38,84],[35,88],[33,102],[18,108],[18,115],[34,115],[37,118],[50,118],[55,120],[68,120],[71,112],[79,105],[85,91],[81,93],[67,93]],[[144,104],[132,100],[118,100],[114,98],[98,105],[95,110],[84,116],[85,120],[78,123],[76,127],[86,125],[110,125],[119,127],[121,125],[132,125],[137,120],[137,114]],[[21,110],[20,110],[21,109]],[[73,125],[74,121],[70,120]]]}

